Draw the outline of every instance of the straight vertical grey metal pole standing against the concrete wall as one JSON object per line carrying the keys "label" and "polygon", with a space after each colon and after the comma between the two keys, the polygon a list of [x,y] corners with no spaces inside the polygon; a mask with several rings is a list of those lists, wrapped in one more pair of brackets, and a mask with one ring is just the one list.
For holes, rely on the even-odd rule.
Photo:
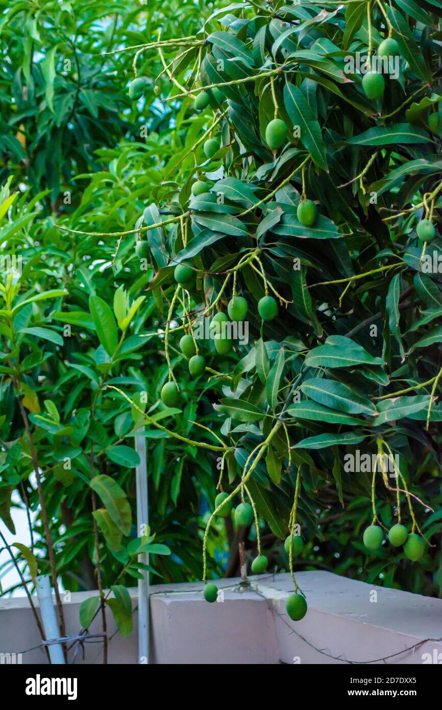
{"label": "straight vertical grey metal pole standing against the concrete wall", "polygon": [[[144,432],[144,427],[140,429]],[[143,534],[149,524],[148,510],[148,465],[146,459],[145,437],[135,437],[135,448],[140,457],[140,465],[136,467],[137,493],[137,535]],[[138,562],[149,564],[149,555],[138,555]],[[138,579],[138,663],[149,662],[149,572],[140,569],[143,579]]]}

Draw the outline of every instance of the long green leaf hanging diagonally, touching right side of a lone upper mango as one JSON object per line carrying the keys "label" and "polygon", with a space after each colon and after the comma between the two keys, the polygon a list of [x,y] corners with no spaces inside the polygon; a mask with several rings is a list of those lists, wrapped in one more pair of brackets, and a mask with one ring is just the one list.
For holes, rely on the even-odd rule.
{"label": "long green leaf hanging diagonally, touching right side of a lone upper mango", "polygon": [[284,86],[284,105],[292,124],[299,126],[302,145],[309,151],[314,163],[319,168],[328,170],[326,146],[316,116],[304,94],[290,82]]}

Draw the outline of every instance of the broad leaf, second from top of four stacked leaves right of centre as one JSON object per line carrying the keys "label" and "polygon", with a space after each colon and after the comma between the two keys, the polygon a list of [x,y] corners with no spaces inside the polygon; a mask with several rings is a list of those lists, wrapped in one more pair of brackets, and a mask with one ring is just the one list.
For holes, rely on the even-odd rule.
{"label": "broad leaf, second from top of four stacked leaves right of centre", "polygon": [[376,414],[375,405],[370,400],[363,399],[342,382],[314,377],[306,380],[300,389],[310,399],[331,409],[347,414]]}

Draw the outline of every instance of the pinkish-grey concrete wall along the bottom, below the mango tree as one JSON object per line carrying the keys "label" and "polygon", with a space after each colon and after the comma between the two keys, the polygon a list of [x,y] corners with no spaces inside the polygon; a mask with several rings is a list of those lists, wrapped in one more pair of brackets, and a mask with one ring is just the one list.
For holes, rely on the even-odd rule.
{"label": "pinkish-grey concrete wall along the bottom, below the mango tree", "polygon": [[[223,601],[204,601],[202,583],[151,587],[151,659],[157,664],[334,664],[348,662],[442,664],[442,600],[338,577],[331,572],[298,572],[309,611],[293,622],[285,612],[292,593],[289,574],[216,581]],[[93,592],[65,602],[67,633],[79,631],[78,610]],[[131,590],[136,608],[137,589]],[[36,600],[35,600],[36,603]],[[109,632],[116,630],[108,613]],[[109,662],[138,663],[137,613],[130,638],[116,633]],[[96,618],[91,633],[99,632]],[[40,639],[26,598],[0,599],[0,653],[22,652]],[[385,661],[383,660],[385,659]],[[39,649],[23,663],[46,662]],[[85,644],[76,663],[101,662],[101,643]]]}

